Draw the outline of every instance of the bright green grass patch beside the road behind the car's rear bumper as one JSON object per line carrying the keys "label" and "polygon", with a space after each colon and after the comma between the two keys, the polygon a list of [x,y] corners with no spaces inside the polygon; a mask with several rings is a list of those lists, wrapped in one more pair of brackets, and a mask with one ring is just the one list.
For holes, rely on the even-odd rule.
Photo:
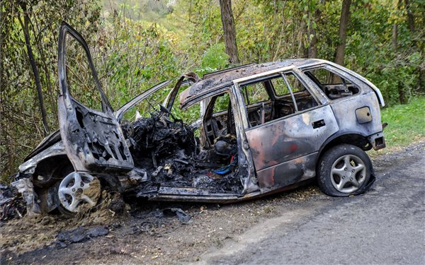
{"label": "bright green grass patch beside the road behind the car's rear bumper", "polygon": [[407,105],[395,105],[382,110],[382,122],[387,148],[407,146],[425,138],[425,97],[412,98]]}

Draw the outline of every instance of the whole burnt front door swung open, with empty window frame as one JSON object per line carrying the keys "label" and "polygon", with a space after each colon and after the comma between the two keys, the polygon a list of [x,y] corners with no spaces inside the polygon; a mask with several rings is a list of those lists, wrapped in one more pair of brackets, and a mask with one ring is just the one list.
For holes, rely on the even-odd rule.
{"label": "whole burnt front door swung open, with empty window frame", "polygon": [[[96,87],[96,94],[98,93],[98,95],[85,96],[89,100],[94,100],[97,97],[98,101],[101,101],[101,110],[86,107],[72,96],[74,93],[77,95],[77,90],[81,88],[73,86],[72,83],[72,86],[69,86],[67,74],[71,70],[67,69],[67,66],[70,62],[81,64],[84,59],[72,61],[73,58],[65,58],[67,57],[67,45],[69,45],[68,48],[72,46],[68,43],[68,40],[72,40],[74,46],[81,45],[79,48],[84,51],[82,57],[86,59],[84,63],[88,64],[86,71],[91,72],[90,78],[92,78],[91,81]],[[67,151],[74,169],[96,173],[132,170],[134,164],[130,150],[120,124],[113,114],[113,109],[101,89],[89,47],[83,37],[67,23],[62,23],[60,28],[58,71],[60,134],[65,151]],[[80,78],[81,74],[74,73],[74,76]]]}

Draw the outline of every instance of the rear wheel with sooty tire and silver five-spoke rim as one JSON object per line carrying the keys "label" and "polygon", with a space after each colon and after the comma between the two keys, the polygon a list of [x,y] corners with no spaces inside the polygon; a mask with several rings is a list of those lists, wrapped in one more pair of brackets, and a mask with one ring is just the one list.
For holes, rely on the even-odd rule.
{"label": "rear wheel with sooty tire and silver five-spoke rim", "polygon": [[368,188],[372,162],[361,148],[341,144],[329,149],[319,159],[317,183],[329,196],[361,194]]}

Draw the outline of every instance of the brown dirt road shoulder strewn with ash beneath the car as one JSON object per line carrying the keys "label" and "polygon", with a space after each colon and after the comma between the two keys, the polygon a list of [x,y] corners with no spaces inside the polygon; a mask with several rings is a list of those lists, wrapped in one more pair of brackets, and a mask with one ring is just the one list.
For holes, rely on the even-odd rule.
{"label": "brown dirt road shoulder strewn with ash beneath the car", "polygon": [[[385,168],[406,151],[373,158],[373,165]],[[372,187],[373,188],[373,187]],[[59,214],[28,216],[0,223],[1,264],[184,264],[200,260],[210,249],[222,247],[229,239],[242,235],[259,223],[276,216],[330,201],[314,182],[305,187],[239,204],[181,204],[127,201],[126,211],[106,207],[120,204],[118,195],[102,194],[105,204],[98,211],[72,220]],[[137,208],[130,208],[129,203]],[[182,222],[170,215],[169,208],[181,208],[191,220]],[[103,227],[107,235],[60,247],[57,235],[75,228]]]}

